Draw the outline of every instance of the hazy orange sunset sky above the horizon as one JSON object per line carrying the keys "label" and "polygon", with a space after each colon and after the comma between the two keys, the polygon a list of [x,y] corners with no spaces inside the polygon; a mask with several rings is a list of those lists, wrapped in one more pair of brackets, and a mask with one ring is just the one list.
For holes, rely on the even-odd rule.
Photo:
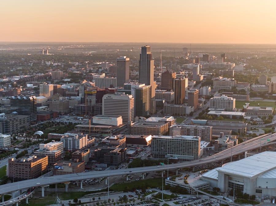
{"label": "hazy orange sunset sky above the horizon", "polygon": [[276,43],[275,0],[2,0],[1,42]]}

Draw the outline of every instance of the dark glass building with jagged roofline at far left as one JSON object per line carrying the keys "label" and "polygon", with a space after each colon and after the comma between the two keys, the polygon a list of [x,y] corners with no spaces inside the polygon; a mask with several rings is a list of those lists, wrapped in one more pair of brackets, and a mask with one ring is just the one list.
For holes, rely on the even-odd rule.
{"label": "dark glass building with jagged roofline at far left", "polygon": [[30,116],[30,121],[36,121],[36,96],[10,98],[10,111],[17,112],[19,115]]}

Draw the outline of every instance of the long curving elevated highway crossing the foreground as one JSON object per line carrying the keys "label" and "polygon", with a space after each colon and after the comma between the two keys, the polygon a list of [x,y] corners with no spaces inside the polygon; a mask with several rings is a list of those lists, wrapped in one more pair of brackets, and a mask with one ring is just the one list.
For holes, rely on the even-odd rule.
{"label": "long curving elevated highway crossing the foreground", "polygon": [[[270,142],[267,140],[270,139]],[[273,134],[269,135],[262,135],[242,144],[236,145],[232,148],[226,149],[220,153],[217,153],[213,156],[205,157],[204,160],[193,160],[191,162],[182,162],[176,164],[169,164],[163,166],[151,166],[151,167],[136,167],[136,168],[126,168],[126,169],[118,169],[118,170],[111,170],[111,171],[91,171],[91,172],[82,172],[82,173],[75,173],[75,174],[68,174],[68,175],[57,175],[51,177],[44,177],[44,178],[36,178],[30,180],[24,180],[20,182],[9,183],[6,185],[0,186],[0,194],[6,194],[12,191],[17,191],[19,189],[25,189],[29,187],[36,187],[38,186],[37,183],[40,183],[39,186],[46,186],[49,184],[55,183],[62,183],[62,182],[69,182],[69,181],[76,181],[76,180],[85,180],[91,178],[100,178],[100,177],[108,177],[108,176],[119,176],[119,175],[128,175],[133,173],[145,173],[150,171],[160,171],[160,170],[178,170],[179,168],[184,167],[195,167],[198,165],[203,164],[210,164],[214,161],[223,161],[229,158],[231,155],[235,156],[245,151],[250,151],[253,149],[258,149],[260,145],[268,145],[274,144],[273,141],[276,140],[276,135]]]}

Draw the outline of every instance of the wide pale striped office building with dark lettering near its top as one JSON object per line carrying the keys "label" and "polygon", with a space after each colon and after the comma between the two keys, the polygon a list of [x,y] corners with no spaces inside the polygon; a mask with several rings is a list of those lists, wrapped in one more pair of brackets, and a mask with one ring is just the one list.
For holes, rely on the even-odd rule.
{"label": "wide pale striped office building with dark lettering near its top", "polygon": [[102,97],[102,115],[122,116],[123,123],[134,121],[134,97],[124,92],[105,94]]}

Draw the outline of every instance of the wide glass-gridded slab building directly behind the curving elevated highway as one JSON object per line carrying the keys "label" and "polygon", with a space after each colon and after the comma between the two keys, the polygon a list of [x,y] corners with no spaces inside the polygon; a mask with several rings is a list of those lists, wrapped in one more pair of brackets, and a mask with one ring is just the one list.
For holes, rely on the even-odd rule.
{"label": "wide glass-gridded slab building directly behind the curving elevated highway", "polygon": [[200,141],[196,136],[152,136],[151,155],[159,159],[197,160],[201,156]]}

